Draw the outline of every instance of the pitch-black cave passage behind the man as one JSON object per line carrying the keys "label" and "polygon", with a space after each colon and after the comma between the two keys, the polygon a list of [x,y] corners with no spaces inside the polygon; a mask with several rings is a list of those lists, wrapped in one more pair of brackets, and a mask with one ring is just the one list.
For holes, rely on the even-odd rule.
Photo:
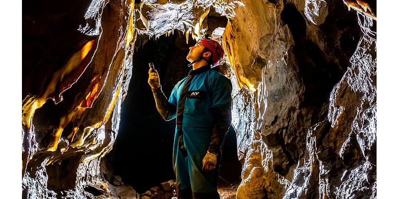
{"label": "pitch-black cave passage behind the man", "polygon": [[[175,84],[187,76],[190,68],[186,56],[195,41],[190,38],[187,44],[186,37],[179,33],[157,40],[144,35],[137,38],[136,43],[142,46],[137,46],[133,55],[133,75],[122,103],[118,136],[113,150],[105,156],[107,169],[112,170],[108,173],[120,176],[138,193],[176,178],[172,165],[176,120],[165,121],[158,113],[147,79],[148,63],[154,62],[162,90],[169,98]],[[224,142],[220,185],[238,182],[240,173],[236,136],[230,127]]]}

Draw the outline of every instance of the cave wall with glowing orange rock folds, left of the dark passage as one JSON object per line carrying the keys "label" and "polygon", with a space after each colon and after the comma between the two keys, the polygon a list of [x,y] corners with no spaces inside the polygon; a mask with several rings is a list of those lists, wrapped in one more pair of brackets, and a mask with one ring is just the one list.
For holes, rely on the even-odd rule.
{"label": "cave wall with glowing orange rock folds, left of the dark passage", "polygon": [[22,198],[109,196],[100,162],[132,75],[130,10],[118,0],[23,3]]}

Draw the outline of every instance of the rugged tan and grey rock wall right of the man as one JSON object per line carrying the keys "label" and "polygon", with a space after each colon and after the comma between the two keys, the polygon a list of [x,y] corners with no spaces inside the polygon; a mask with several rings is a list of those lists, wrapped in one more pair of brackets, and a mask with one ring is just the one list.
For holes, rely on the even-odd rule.
{"label": "rugged tan and grey rock wall right of the man", "polygon": [[342,1],[242,2],[223,35],[237,198],[375,198],[376,21]]}

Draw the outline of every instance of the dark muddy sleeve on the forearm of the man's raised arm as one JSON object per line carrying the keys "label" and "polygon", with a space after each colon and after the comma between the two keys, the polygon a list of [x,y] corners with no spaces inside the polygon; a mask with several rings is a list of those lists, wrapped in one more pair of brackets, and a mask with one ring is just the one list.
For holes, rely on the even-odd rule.
{"label": "dark muddy sleeve on the forearm of the man's raised arm", "polygon": [[161,116],[169,121],[176,117],[176,87],[173,89],[170,99],[168,100],[162,92],[161,87],[152,89],[155,104]]}

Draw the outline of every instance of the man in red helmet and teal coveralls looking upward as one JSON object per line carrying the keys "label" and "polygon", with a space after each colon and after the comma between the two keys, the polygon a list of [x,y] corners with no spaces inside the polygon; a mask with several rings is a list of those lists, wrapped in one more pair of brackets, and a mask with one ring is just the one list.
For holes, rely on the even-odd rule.
{"label": "man in red helmet and teal coveralls looking upward", "polygon": [[[220,199],[217,193],[220,145],[231,123],[231,81],[211,69],[223,58],[220,44],[206,37],[190,47],[193,65],[169,100],[156,70],[149,70],[156,106],[165,120],[176,117],[173,167],[179,199]],[[190,66],[189,65],[189,66]]]}

